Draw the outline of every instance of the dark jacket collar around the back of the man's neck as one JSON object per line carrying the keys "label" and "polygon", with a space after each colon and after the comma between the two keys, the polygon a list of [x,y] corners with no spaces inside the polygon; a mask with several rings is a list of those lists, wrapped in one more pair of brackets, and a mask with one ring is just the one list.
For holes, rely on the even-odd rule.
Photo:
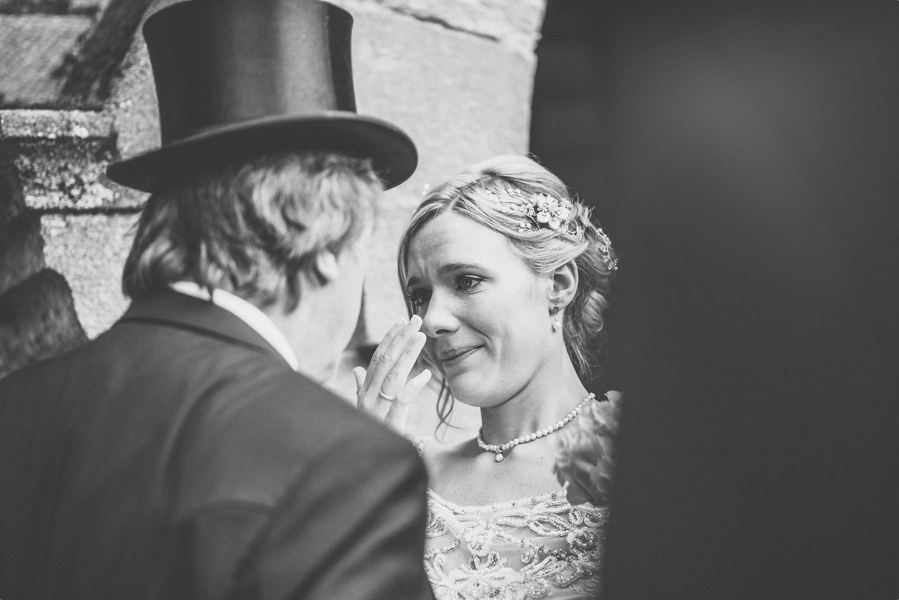
{"label": "dark jacket collar around the back of the man's neck", "polygon": [[210,301],[174,290],[158,291],[148,298],[134,300],[119,322],[192,329],[201,335],[249,346],[286,363],[278,351],[241,318]]}

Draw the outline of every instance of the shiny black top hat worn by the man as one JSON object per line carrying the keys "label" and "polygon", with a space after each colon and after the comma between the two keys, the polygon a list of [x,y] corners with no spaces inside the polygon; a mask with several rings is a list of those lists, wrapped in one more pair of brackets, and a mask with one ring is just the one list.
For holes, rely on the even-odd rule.
{"label": "shiny black top hat worn by the man", "polygon": [[281,150],[368,157],[388,188],[418,154],[396,126],[356,114],[352,16],[318,0],[190,0],[144,24],[162,147],[110,165],[118,184],[156,192],[185,177]]}

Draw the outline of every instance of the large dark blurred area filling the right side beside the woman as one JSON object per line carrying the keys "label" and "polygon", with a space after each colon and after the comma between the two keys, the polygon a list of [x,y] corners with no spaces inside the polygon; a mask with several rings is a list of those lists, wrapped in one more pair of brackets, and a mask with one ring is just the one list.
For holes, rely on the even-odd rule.
{"label": "large dark blurred area filling the right side beside the woman", "polygon": [[899,597],[899,3],[590,4],[532,149],[622,255],[604,597]]}

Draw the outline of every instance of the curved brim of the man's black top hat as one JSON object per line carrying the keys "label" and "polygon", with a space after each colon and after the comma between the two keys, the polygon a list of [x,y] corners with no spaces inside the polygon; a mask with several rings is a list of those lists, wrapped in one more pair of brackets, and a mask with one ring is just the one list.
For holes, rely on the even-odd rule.
{"label": "curved brim of the man's black top hat", "polygon": [[355,112],[330,111],[263,117],[200,131],[113,163],[106,175],[117,184],[155,193],[263,154],[304,150],[370,158],[386,189],[402,184],[418,164],[414,142],[395,125]]}

